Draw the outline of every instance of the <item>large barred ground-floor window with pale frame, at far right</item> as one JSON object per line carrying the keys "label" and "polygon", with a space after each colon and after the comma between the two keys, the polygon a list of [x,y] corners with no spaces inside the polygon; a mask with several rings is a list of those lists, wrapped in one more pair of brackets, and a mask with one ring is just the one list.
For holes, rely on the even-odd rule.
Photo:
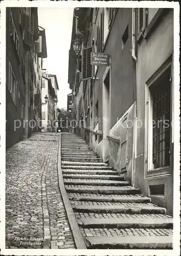
{"label": "large barred ground-floor window with pale frame, at far right", "polygon": [[148,80],[146,87],[146,175],[170,173],[171,165],[171,61]]}

